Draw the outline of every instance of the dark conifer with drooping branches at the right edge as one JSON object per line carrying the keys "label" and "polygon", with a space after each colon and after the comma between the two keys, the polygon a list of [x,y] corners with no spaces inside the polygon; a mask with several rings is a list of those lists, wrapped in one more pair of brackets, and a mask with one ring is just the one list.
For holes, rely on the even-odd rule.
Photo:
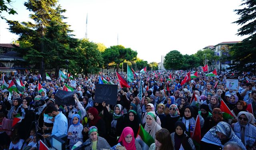
{"label": "dark conifer with drooping branches at the right edge", "polygon": [[240,18],[233,22],[240,26],[238,36],[249,36],[242,42],[235,44],[230,49],[230,58],[236,63],[230,64],[232,71],[250,71],[256,72],[256,2],[255,0],[242,0],[243,9],[235,10]]}

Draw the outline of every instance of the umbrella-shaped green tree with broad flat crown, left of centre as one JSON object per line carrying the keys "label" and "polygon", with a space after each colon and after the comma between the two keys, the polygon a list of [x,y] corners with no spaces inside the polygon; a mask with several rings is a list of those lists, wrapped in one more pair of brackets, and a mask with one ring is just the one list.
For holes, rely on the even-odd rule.
{"label": "umbrella-shaped green tree with broad flat crown, left of centre", "polygon": [[105,66],[109,63],[116,63],[116,69],[118,70],[119,65],[125,61],[131,62],[136,59],[137,52],[131,48],[125,48],[122,45],[110,46],[104,52],[102,57],[104,59]]}

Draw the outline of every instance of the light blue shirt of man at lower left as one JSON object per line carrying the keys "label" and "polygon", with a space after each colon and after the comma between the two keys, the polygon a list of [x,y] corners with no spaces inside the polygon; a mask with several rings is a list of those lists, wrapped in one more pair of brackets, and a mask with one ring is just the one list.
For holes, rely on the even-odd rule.
{"label": "light blue shirt of man at lower left", "polygon": [[61,136],[68,132],[68,120],[61,112],[54,117],[52,135]]}

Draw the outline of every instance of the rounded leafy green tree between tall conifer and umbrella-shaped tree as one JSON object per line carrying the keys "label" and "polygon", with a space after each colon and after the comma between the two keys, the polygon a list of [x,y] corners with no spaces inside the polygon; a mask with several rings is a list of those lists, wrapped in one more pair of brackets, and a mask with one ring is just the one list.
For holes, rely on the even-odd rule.
{"label": "rounded leafy green tree between tall conifer and umbrella-shaped tree", "polygon": [[79,40],[76,48],[77,54],[80,54],[76,60],[78,62],[77,69],[79,72],[87,74],[96,74],[102,68],[104,61],[96,43],[88,41],[88,39]]}

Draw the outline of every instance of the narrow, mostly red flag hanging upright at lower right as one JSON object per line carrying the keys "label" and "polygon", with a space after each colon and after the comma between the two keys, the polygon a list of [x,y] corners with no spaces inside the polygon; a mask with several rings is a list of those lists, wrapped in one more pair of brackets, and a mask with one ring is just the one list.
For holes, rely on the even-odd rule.
{"label": "narrow, mostly red flag hanging upright at lower right", "polygon": [[200,150],[200,141],[201,141],[201,127],[200,127],[200,119],[199,114],[196,117],[196,123],[194,126],[194,130],[191,136],[193,143],[196,147],[196,150]]}

